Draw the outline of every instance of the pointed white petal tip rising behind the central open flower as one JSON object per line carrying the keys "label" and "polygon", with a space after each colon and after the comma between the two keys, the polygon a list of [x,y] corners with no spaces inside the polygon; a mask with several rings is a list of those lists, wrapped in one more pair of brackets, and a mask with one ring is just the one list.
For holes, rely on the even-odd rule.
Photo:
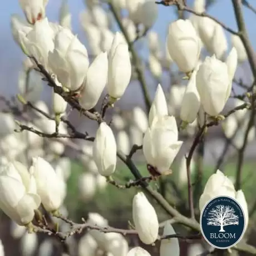
{"label": "pointed white petal tip rising behind the central open flower", "polygon": [[168,115],[167,103],[164,95],[164,91],[159,83],[156,89],[155,98],[152,102],[149,111],[149,125],[152,124],[152,121],[155,116],[165,116]]}

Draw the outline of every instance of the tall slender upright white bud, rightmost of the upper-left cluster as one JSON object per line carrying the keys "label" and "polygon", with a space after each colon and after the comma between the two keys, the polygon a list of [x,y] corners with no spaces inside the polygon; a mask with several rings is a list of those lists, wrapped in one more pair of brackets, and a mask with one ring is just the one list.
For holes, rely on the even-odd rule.
{"label": "tall slender upright white bud, rightmost of the upper-left cluster", "polygon": [[120,99],[131,79],[131,61],[127,43],[116,32],[109,52],[107,91],[112,98]]}

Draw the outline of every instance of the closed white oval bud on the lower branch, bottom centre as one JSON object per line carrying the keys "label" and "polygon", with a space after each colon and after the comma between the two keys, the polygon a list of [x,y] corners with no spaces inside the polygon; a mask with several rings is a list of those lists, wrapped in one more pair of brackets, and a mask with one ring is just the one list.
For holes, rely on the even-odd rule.
{"label": "closed white oval bud on the lower branch, bottom centre", "polygon": [[154,243],[159,223],[154,207],[142,192],[137,193],[132,201],[132,219],[140,240],[144,244]]}

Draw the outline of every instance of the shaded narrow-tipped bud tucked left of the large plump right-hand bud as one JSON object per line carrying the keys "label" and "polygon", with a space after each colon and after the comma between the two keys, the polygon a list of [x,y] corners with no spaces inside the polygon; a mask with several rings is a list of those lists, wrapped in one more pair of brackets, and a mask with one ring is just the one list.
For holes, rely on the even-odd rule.
{"label": "shaded narrow-tipped bud tucked left of the large plump right-hand bud", "polygon": [[200,96],[196,88],[196,73],[197,70],[194,70],[190,77],[180,109],[180,119],[190,124],[195,121],[201,105]]}

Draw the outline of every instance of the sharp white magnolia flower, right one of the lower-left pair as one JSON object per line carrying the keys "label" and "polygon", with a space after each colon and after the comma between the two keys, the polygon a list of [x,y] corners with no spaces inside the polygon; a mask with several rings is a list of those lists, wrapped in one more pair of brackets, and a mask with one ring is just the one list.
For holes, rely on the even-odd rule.
{"label": "sharp white magnolia flower, right one of the lower-left pair", "polygon": [[35,177],[37,192],[47,211],[60,208],[66,196],[66,184],[52,166],[41,157],[34,157],[29,172]]}

